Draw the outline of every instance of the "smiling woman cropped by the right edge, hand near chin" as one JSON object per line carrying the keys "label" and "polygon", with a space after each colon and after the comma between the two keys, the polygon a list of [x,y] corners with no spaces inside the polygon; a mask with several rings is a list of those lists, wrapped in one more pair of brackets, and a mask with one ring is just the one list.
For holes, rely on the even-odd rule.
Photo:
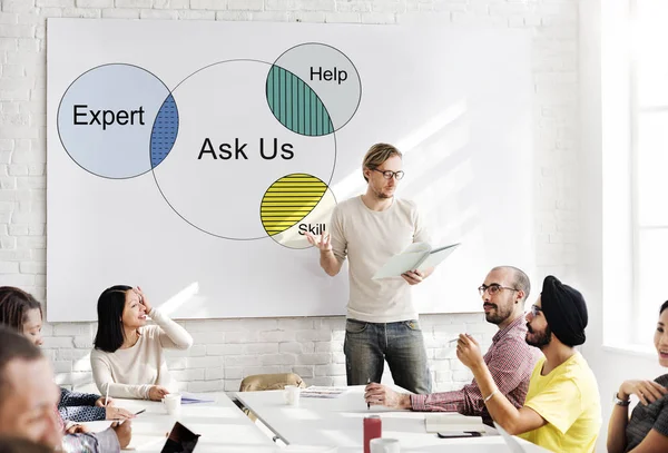
{"label": "smiling woman cropped by the right edge, hand near chin", "polygon": [[[668,367],[668,301],[659,309],[655,332],[659,365]],[[668,452],[668,374],[654,381],[625,381],[615,395],[616,406],[608,424],[609,453]],[[631,395],[640,404],[629,420]]]}

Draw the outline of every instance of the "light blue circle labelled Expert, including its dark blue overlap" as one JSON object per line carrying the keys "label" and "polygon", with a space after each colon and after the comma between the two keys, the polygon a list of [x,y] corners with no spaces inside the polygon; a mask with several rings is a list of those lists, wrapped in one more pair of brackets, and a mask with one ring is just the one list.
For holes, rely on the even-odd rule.
{"label": "light blue circle labelled Expert, including its dark blue overlap", "polygon": [[178,110],[155,75],[112,63],[69,86],[57,124],[62,146],[81,168],[105,178],[132,178],[165,159],[178,132]]}

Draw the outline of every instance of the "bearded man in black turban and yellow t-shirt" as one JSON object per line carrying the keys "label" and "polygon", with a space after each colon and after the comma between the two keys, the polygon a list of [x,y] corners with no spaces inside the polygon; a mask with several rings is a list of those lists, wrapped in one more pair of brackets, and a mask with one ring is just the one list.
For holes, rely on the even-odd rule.
{"label": "bearded man in black turban and yellow t-shirt", "polygon": [[460,335],[456,356],[473,372],[492,418],[505,431],[553,452],[593,452],[601,426],[598,385],[574,348],[586,339],[584,298],[550,275],[527,322],[527,343],[544,357],[533,368],[519,410],[499,392],[473,338]]}

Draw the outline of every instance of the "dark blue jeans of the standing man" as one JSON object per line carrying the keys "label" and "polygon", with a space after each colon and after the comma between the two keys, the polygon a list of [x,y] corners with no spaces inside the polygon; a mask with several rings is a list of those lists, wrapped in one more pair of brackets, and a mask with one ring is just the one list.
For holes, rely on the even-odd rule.
{"label": "dark blue jeans of the standing man", "polygon": [[386,360],[396,385],[414,393],[431,393],[424,338],[415,319],[397,323],[346,319],[343,352],[348,385],[381,382]]}

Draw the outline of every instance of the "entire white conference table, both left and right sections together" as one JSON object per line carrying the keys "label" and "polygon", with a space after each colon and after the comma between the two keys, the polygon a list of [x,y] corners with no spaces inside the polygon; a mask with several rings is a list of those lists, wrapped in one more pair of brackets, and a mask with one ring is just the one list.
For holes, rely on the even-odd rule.
{"label": "entire white conference table, both left and right sections together", "polygon": [[[399,390],[399,388],[397,388]],[[366,407],[364,386],[352,386],[336,398],[301,398],[298,406],[285,402],[284,391],[238,392],[236,397],[264,423],[286,446],[276,445],[225,393],[206,393],[200,402],[183,404],[178,415],[168,415],[163,403],[116,398],[116,405],[132,412],[146,410],[132,420],[132,440],[126,450],[159,453],[167,433],[178,421],[199,434],[196,453],[361,453],[362,423],[370,414],[382,418],[383,437],[397,439],[402,452],[461,453],[510,450],[503,439],[489,435],[471,439],[439,439],[426,433],[425,413]],[[91,431],[102,431],[110,422],[82,423]],[[520,440],[523,453],[547,452]]]}

